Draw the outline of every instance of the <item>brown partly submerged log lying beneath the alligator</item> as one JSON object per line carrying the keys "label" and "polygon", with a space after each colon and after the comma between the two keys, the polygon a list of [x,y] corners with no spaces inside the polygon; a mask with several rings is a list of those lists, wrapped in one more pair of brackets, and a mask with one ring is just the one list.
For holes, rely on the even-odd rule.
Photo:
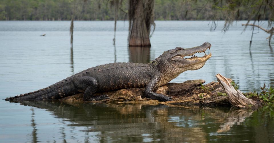
{"label": "brown partly submerged log lying beneath the alligator", "polygon": [[[231,82],[231,79],[227,79],[227,82]],[[225,94],[225,90],[219,84],[219,82],[212,81],[205,85],[204,80],[188,80],[183,83],[168,83],[156,89],[156,93],[162,93],[173,98],[173,101],[159,102],[157,100],[148,99],[143,96],[145,88],[128,88],[120,89],[117,91],[108,91],[102,93],[95,93],[94,96],[108,95],[110,99],[101,101],[85,101],[85,102],[100,102],[100,103],[145,103],[150,105],[155,104],[180,104],[180,105],[214,105],[214,106],[235,106],[234,101],[237,98],[228,97]],[[233,87],[233,86],[232,86]],[[70,97],[60,99],[67,102],[83,102],[83,94],[76,94]],[[250,100],[250,99],[249,99]],[[251,103],[248,103],[250,106]],[[237,104],[240,105],[240,104]],[[242,106],[237,106],[242,107]],[[254,106],[255,107],[255,106]]]}

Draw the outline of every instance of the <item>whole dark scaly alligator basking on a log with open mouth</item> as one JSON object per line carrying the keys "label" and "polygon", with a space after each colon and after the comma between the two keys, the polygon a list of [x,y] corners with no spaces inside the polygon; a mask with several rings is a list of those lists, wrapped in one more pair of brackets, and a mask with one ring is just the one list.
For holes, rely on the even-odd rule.
{"label": "whole dark scaly alligator basking on a log with open mouth", "polygon": [[[168,95],[154,93],[156,87],[165,85],[184,71],[202,68],[211,57],[211,53],[205,53],[210,47],[211,44],[207,42],[193,48],[177,47],[165,51],[148,64],[119,62],[92,67],[49,87],[9,97],[5,100],[52,100],[78,93],[84,93],[84,101],[102,100],[109,97],[107,95],[95,97],[93,94],[124,88],[145,87],[144,97],[158,101],[172,101]],[[198,52],[204,52],[205,55],[202,57],[195,56],[194,54]]]}

